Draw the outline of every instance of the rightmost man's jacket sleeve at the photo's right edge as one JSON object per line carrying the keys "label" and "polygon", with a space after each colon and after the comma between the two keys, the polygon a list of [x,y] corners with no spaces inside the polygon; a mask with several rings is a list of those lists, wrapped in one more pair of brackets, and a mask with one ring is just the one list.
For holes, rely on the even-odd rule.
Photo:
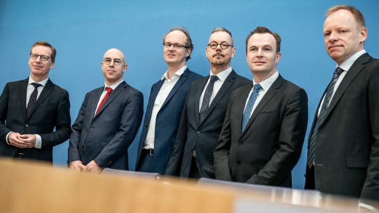
{"label": "rightmost man's jacket sleeve at the photo's right edge", "polygon": [[[379,66],[373,69],[369,80],[368,105],[373,144],[361,200],[379,200]],[[366,201],[365,201],[366,202]]]}

